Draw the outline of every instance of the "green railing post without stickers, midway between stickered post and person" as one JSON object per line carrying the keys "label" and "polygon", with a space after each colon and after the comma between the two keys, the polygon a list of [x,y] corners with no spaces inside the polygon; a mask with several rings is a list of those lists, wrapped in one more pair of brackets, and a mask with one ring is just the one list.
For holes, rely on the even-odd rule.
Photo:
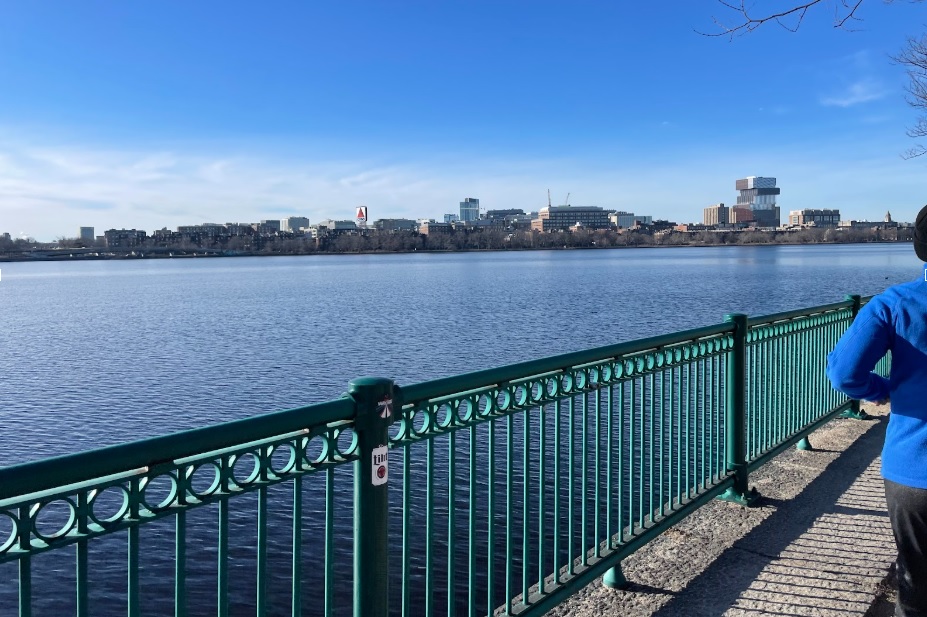
{"label": "green railing post without stickers, midway between stickered post and person", "polygon": [[725,462],[728,471],[734,472],[734,486],[727,489],[720,499],[749,506],[759,497],[756,489],[748,486],[747,471],[747,409],[746,409],[746,366],[747,366],[747,316],[731,313],[724,321],[734,325],[734,345],[727,355],[725,368],[726,405],[724,409]]}

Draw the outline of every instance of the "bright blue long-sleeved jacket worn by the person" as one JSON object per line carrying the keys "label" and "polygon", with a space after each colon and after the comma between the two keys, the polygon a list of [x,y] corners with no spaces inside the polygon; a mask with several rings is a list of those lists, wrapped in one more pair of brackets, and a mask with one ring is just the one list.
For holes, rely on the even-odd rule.
{"label": "bright blue long-sleeved jacket worn by the person", "polygon": [[[892,352],[888,379],[872,372]],[[927,489],[927,269],[889,287],[859,311],[827,356],[834,388],[854,399],[891,399],[882,477]]]}

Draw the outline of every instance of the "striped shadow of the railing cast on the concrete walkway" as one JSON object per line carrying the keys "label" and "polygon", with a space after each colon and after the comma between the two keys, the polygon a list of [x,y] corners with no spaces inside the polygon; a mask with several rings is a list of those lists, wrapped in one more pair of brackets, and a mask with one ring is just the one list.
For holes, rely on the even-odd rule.
{"label": "striped shadow of the railing cast on the concrete walkway", "polygon": [[879,476],[886,424],[875,419],[794,499],[761,499],[775,511],[654,617],[872,614],[894,559]]}

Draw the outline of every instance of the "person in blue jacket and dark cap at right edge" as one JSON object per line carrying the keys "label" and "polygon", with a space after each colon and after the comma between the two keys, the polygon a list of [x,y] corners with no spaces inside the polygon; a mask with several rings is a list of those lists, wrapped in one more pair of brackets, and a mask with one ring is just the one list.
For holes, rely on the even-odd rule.
{"label": "person in blue jacket and dark cap at right edge", "polygon": [[[914,223],[914,252],[927,262],[927,206]],[[891,375],[873,372],[892,352]],[[834,388],[884,404],[885,499],[898,546],[896,617],[927,617],[927,266],[917,280],[872,298],[827,356]]]}

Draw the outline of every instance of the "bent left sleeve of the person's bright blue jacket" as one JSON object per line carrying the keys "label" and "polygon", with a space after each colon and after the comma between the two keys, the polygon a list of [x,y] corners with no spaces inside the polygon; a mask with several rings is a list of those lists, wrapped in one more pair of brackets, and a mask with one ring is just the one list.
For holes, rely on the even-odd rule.
{"label": "bent left sleeve of the person's bright blue jacket", "polygon": [[887,399],[888,380],[872,369],[891,348],[894,336],[891,312],[881,298],[873,298],[827,356],[827,377],[834,388],[854,399]]}

